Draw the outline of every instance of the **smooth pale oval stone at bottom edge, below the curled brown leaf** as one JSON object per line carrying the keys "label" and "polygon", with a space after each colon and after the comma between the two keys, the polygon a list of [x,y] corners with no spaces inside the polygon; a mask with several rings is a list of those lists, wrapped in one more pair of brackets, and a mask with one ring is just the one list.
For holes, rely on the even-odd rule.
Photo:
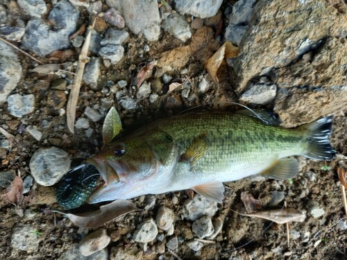
{"label": "smooth pale oval stone at bottom edge, below the curled brown leaf", "polygon": [[91,254],[94,254],[94,252],[98,252],[107,247],[110,241],[111,238],[106,234],[106,230],[101,228],[95,232],[87,234],[87,236],[82,239],[79,245],[79,250],[83,256],[88,257]]}

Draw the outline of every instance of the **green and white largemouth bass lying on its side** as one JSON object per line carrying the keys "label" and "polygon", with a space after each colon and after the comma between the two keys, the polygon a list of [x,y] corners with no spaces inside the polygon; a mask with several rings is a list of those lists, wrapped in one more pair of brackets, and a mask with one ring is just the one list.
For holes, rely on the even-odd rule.
{"label": "green and white largemouth bass lying on its side", "polygon": [[262,175],[276,180],[299,171],[293,155],[331,160],[332,116],[282,128],[262,111],[181,114],[145,125],[105,144],[87,163],[104,183],[90,204],[193,189],[223,201],[223,182]]}

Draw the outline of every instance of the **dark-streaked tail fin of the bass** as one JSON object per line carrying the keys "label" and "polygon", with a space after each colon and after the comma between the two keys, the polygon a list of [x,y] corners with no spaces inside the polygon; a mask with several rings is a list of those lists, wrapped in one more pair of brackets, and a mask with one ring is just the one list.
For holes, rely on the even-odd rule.
{"label": "dark-streaked tail fin of the bass", "polygon": [[312,123],[307,123],[301,128],[306,128],[308,131],[305,157],[320,160],[335,157],[336,150],[332,148],[329,141],[332,132],[332,116],[325,116]]}

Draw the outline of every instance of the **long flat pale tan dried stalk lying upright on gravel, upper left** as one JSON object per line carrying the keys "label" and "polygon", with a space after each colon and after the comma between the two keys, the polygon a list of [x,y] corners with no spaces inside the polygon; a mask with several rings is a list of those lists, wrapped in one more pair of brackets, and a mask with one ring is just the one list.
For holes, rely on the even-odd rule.
{"label": "long flat pale tan dried stalk lying upright on gravel, upper left", "polygon": [[74,83],[71,86],[71,91],[69,94],[69,101],[67,101],[67,128],[69,131],[74,134],[74,125],[76,119],[76,106],[78,102],[78,95],[80,94],[83,72],[85,70],[85,64],[89,62],[90,58],[88,57],[88,49],[90,45],[90,38],[92,37],[92,30],[95,25],[96,18],[90,26],[89,31],[87,33],[87,37],[85,37],[85,42],[82,46],[81,53],[78,57],[78,65],[76,68],[76,76],[74,77]]}

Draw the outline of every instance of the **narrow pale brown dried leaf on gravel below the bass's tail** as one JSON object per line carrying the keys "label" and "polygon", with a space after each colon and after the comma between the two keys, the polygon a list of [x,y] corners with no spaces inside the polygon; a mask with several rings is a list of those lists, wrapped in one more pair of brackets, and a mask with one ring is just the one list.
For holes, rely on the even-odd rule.
{"label": "narrow pale brown dried leaf on gravel below the bass's tail", "polygon": [[284,208],[284,209],[271,209],[264,211],[257,211],[255,213],[242,214],[235,211],[241,216],[250,216],[255,218],[264,218],[266,220],[273,221],[278,224],[285,224],[289,222],[303,222],[306,218],[305,212],[300,212],[294,208]]}

